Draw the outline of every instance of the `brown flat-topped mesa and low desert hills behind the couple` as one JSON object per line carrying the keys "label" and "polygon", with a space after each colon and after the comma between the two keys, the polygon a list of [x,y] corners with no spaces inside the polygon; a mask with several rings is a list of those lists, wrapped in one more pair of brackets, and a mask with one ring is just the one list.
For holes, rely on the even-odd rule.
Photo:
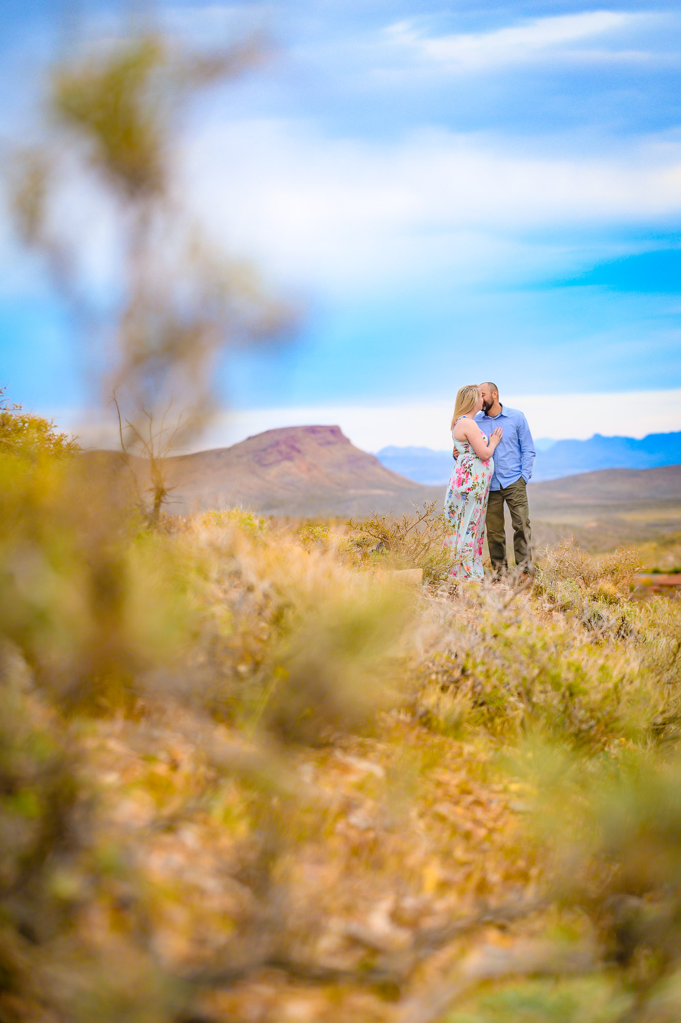
{"label": "brown flat-topped mesa and low desert hills behind the couple", "polygon": [[[142,463],[135,461],[142,474]],[[337,426],[286,427],[231,447],[171,457],[164,474],[169,513],[240,507],[288,519],[413,514],[443,486],[415,483],[355,447]],[[681,530],[681,466],[607,469],[531,483],[535,543],[574,535],[607,550]]]}

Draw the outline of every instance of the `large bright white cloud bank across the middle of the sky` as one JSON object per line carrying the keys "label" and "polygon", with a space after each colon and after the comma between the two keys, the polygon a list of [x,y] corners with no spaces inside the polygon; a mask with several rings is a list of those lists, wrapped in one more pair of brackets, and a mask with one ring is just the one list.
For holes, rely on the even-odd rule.
{"label": "large bright white cloud bank across the middle of the sky", "polygon": [[541,247],[512,238],[518,230],[681,212],[681,145],[654,138],[566,157],[444,130],[373,143],[251,120],[196,136],[186,175],[221,241],[287,284],[338,294],[433,272],[458,285],[509,267],[532,277],[557,253],[547,266]]}

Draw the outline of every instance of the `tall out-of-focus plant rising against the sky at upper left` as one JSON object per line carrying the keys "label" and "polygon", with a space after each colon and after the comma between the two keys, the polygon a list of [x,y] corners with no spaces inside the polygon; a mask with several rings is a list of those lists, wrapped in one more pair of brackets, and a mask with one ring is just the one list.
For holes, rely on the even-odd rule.
{"label": "tall out-of-focus plant rising against the sky at upper left", "polygon": [[[192,104],[265,52],[262,39],[205,52],[162,34],[82,45],[48,76],[36,140],[6,162],[17,236],[114,391],[126,451],[148,433],[152,453],[160,435],[186,444],[215,410],[225,353],[280,340],[296,318],[199,222],[183,168]],[[163,503],[163,480],[153,489]]]}

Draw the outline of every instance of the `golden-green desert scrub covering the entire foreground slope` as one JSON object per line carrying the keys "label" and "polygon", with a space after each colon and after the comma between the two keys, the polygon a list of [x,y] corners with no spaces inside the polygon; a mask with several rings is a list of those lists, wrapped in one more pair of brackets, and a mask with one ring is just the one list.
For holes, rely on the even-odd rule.
{"label": "golden-green desert scrub covering the entire foreground slope", "polygon": [[110,453],[0,477],[3,1021],[678,1018],[681,616],[635,551],[403,588],[362,524],[149,528]]}

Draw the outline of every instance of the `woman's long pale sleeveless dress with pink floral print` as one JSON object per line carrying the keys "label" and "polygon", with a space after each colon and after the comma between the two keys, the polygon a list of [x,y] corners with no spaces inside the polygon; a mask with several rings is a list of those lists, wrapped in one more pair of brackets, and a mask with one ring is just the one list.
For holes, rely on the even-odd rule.
{"label": "woman's long pale sleeveless dress with pink floral print", "polygon": [[454,438],[453,430],[452,440],[458,457],[445,498],[445,518],[450,528],[445,546],[450,547],[453,554],[449,576],[451,579],[482,579],[487,497],[494,473],[494,458],[483,461],[468,441]]}

